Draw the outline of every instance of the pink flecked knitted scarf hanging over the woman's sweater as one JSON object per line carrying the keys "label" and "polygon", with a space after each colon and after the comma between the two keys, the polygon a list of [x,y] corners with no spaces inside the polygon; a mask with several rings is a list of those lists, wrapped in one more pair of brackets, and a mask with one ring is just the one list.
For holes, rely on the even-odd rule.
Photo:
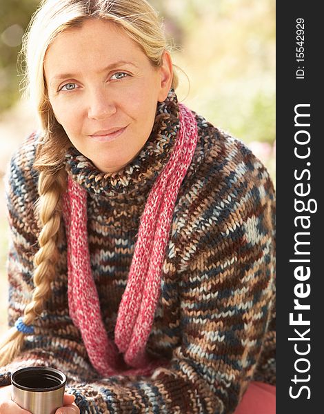
{"label": "pink flecked knitted scarf hanging over the woman's sweater", "polygon": [[69,311],[81,332],[92,366],[103,376],[148,375],[156,366],[145,353],[145,345],[159,300],[161,268],[174,205],[198,139],[194,115],[181,104],[179,110],[180,129],[174,150],[156,178],[141,216],[128,282],[119,305],[114,342],[105,331],[90,267],[87,192],[68,178],[63,216],[68,239]]}

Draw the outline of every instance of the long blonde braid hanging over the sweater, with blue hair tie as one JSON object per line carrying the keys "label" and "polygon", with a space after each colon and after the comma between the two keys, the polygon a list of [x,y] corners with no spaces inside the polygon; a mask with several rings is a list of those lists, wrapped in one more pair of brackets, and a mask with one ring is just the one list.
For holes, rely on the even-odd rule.
{"label": "long blonde braid hanging over the sweater, with blue hair tie", "polygon": [[[62,165],[62,164],[61,164]],[[52,169],[51,169],[52,170]],[[45,300],[50,296],[50,285],[55,275],[55,264],[59,252],[57,239],[61,224],[61,195],[66,186],[66,172],[59,168],[54,173],[42,169],[39,174],[39,200],[37,213],[41,223],[39,234],[39,251],[34,256],[34,291],[32,301],[25,308],[21,319],[23,325],[31,326],[34,319],[41,314]],[[18,331],[16,326],[10,328],[0,344],[0,366],[9,364],[19,355],[23,348],[26,332]]]}

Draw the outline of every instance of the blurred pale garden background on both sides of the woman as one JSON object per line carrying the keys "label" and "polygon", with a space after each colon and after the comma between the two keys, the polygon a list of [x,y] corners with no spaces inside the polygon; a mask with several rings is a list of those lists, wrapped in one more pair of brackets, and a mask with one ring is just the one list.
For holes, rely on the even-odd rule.
{"label": "blurred pale garden background on both sides of the woman", "polygon": [[[179,100],[244,141],[275,181],[275,1],[151,0],[179,71]],[[37,0],[0,0],[0,334],[6,329],[8,226],[4,174],[37,128],[21,100],[17,54]],[[189,79],[189,80],[188,80]]]}

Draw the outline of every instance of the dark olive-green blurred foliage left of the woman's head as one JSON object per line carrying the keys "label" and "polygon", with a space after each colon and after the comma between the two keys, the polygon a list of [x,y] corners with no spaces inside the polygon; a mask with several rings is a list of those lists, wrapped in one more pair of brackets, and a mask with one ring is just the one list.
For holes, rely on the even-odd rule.
{"label": "dark olive-green blurred foliage left of the woman's head", "polygon": [[0,19],[0,112],[19,98],[17,53],[21,37],[39,1],[1,0]]}

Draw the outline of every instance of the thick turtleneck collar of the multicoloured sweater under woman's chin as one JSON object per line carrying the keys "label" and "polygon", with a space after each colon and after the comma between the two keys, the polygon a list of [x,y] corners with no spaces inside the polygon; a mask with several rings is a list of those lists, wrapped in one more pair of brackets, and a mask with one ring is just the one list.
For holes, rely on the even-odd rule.
{"label": "thick turtleneck collar of the multicoloured sweater under woman's chin", "polygon": [[167,99],[157,105],[148,141],[127,166],[117,172],[101,172],[90,159],[72,147],[66,154],[68,175],[92,194],[110,197],[145,194],[168,163],[179,127],[178,100],[171,89]]}

